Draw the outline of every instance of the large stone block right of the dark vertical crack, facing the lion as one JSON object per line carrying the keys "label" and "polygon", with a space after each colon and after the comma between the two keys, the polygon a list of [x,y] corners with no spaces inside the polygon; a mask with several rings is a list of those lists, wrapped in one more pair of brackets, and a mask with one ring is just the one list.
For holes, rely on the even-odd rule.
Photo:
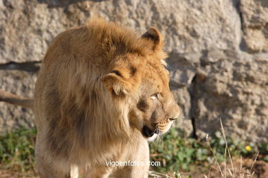
{"label": "large stone block right of the dark vertical crack, facing the lion", "polygon": [[202,59],[205,77],[192,83],[192,116],[197,135],[220,130],[221,118],[229,136],[254,142],[266,140],[268,55],[231,52],[231,55],[217,56],[213,64],[208,63],[208,57]]}

